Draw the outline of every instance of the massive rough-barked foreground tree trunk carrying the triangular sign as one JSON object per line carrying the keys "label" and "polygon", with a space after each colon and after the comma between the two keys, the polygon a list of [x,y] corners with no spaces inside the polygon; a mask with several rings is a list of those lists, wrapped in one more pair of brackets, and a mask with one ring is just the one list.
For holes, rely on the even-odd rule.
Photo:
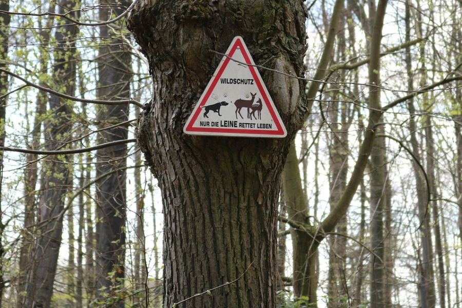
{"label": "massive rough-barked foreground tree trunk carrying the triangular sign", "polygon": [[257,64],[302,75],[304,20],[300,0],[142,0],[129,17],[155,84],[137,138],[163,197],[164,307],[275,306],[279,187],[304,83],[260,70],[284,139],[190,137],[183,125],[221,59],[210,50],[235,35]]}

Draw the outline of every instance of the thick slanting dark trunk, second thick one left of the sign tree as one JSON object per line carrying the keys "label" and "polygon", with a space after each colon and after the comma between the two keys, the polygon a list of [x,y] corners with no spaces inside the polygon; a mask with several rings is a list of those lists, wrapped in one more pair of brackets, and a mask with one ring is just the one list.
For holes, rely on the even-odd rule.
{"label": "thick slanting dark trunk, second thick one left of the sign tree", "polygon": [[[63,0],[59,5],[59,13],[67,13],[75,6],[75,1]],[[78,19],[79,13],[80,11],[74,11],[71,15]],[[75,55],[73,38],[77,31],[77,26],[71,24],[61,26],[55,33],[57,46],[54,50],[54,81],[69,95],[73,95],[75,91],[75,61],[72,59]],[[46,149],[55,150],[62,147],[63,141],[70,140],[72,109],[66,101],[51,94],[49,110],[52,120],[45,125],[45,138],[49,139]],[[27,277],[27,296],[23,305],[25,307],[50,306],[63,233],[64,196],[71,182],[70,167],[63,164],[63,161],[71,161],[70,156],[63,155],[44,163],[45,172],[41,183],[43,192],[38,205],[40,208],[39,235],[30,259],[33,264]]]}

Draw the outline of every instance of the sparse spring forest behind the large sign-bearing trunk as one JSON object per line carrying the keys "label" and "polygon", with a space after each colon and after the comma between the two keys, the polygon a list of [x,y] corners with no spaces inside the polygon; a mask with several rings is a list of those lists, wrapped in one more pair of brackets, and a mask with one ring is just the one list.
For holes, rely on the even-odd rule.
{"label": "sparse spring forest behind the large sign-bearing trunk", "polygon": [[[163,273],[183,269],[165,268],[169,196],[137,145],[137,118],[158,90],[153,57],[127,30],[140,3],[0,0],[2,307],[198,307],[250,276],[254,261],[221,282],[163,295]],[[462,2],[287,3],[305,16],[303,74],[271,56],[256,64],[264,80],[291,73],[286,83],[308,83],[313,107],[289,134],[273,187],[274,304],[460,308]],[[176,8],[187,15],[189,6]],[[136,33],[136,18],[128,24]],[[252,42],[265,30],[254,31],[232,36],[258,53]],[[226,47],[208,51],[205,82]],[[350,189],[372,130],[364,177]]]}

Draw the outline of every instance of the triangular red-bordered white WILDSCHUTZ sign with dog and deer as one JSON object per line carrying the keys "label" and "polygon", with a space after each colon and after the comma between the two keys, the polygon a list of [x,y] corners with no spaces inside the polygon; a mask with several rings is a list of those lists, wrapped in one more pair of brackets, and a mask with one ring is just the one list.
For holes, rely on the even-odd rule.
{"label": "triangular red-bordered white WILDSCHUTZ sign with dog and deer", "polygon": [[287,135],[242,37],[236,36],[229,45],[183,131],[206,136]]}

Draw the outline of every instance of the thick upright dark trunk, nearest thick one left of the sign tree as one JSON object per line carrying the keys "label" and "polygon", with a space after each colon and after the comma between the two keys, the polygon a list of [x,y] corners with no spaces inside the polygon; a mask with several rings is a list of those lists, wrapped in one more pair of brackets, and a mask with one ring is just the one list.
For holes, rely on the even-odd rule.
{"label": "thick upright dark trunk, nearest thick one left of the sign tree", "polygon": [[[109,20],[106,1],[100,8],[100,20]],[[113,9],[121,14],[128,1]],[[111,26],[101,26],[100,36],[105,41],[99,50],[99,88],[98,99],[117,100],[129,98],[131,80],[131,58],[127,44],[120,38],[121,30],[114,31]],[[126,35],[126,33],[122,33]],[[97,109],[98,128],[103,129],[128,120],[128,105],[103,106]],[[98,141],[106,143],[124,140],[128,137],[128,127],[117,126],[98,132]],[[127,145],[118,145],[97,151],[97,177],[111,170],[126,166]],[[97,283],[96,289],[101,299],[121,292],[125,278],[125,219],[126,219],[126,171],[119,170],[97,183]],[[105,294],[106,293],[106,294]],[[113,303],[123,307],[124,301]]]}

